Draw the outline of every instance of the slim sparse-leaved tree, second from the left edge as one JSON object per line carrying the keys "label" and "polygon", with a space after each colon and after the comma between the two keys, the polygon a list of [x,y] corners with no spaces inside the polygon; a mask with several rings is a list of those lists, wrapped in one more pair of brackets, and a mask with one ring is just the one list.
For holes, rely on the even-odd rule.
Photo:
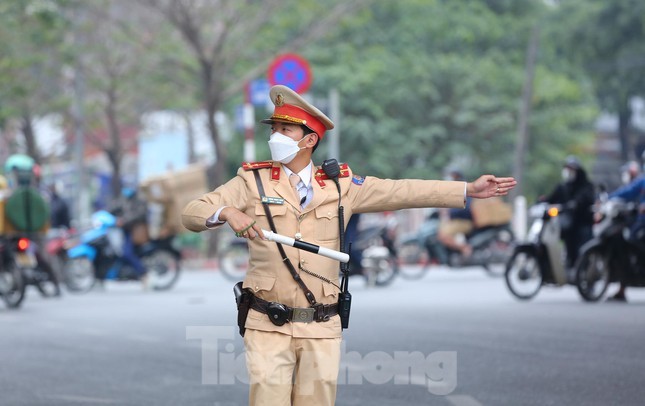
{"label": "slim sparse-leaved tree, second from the left edge", "polygon": [[124,154],[137,145],[140,118],[155,87],[146,70],[150,54],[139,39],[147,20],[126,1],[74,6],[75,34],[82,38],[74,45],[86,88],[85,137],[104,152],[112,195],[118,196]]}

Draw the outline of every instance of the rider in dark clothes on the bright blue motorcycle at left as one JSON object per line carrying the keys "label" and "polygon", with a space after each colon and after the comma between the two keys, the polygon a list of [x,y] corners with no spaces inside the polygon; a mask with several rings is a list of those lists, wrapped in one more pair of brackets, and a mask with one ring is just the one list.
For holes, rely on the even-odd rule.
{"label": "rider in dark clothes on the bright blue motorcycle at left", "polygon": [[123,259],[126,260],[140,279],[145,279],[145,267],[136,253],[135,233],[147,229],[147,204],[137,196],[137,189],[124,187],[121,197],[117,199],[110,212],[117,217],[117,226],[123,229],[125,241],[123,244]]}

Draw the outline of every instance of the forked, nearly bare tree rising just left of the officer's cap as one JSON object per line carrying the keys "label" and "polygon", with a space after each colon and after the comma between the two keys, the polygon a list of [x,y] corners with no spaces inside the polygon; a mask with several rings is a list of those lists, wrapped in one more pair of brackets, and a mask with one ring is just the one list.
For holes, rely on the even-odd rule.
{"label": "forked, nearly bare tree rising just left of the officer's cap", "polygon": [[193,86],[200,90],[216,157],[214,171],[209,177],[214,186],[221,184],[227,174],[226,145],[218,132],[215,112],[230,97],[241,94],[245,84],[264,72],[277,54],[287,50],[297,52],[364,3],[334,1],[321,5],[314,1],[278,0],[139,2],[158,11],[175,27],[191,52],[192,59],[173,58],[174,65],[190,72],[195,78]]}

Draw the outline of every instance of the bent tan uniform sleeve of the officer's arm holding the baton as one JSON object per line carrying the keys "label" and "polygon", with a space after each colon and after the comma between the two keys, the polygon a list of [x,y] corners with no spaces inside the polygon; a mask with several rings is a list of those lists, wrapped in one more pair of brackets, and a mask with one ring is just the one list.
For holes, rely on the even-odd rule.
{"label": "bent tan uniform sleeve of the officer's arm holding the baton", "polygon": [[244,211],[248,200],[248,187],[243,175],[244,170],[239,169],[233,179],[189,202],[181,215],[184,227],[191,231],[207,230],[206,220],[223,206]]}

